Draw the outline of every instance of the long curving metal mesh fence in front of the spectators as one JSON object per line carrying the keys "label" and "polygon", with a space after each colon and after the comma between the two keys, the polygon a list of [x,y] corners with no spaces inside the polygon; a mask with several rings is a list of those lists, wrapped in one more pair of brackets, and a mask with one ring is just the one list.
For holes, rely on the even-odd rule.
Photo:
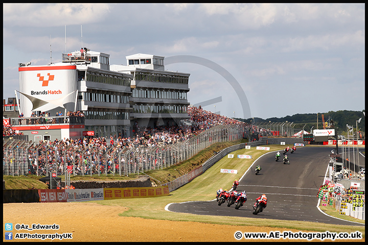
{"label": "long curving metal mesh fence in front of the spectators", "polygon": [[129,175],[163,169],[185,161],[217,142],[247,137],[248,129],[240,125],[218,125],[187,139],[156,147],[118,148],[74,145],[68,147],[50,142],[4,139],[3,175],[65,174],[67,166],[73,175]]}

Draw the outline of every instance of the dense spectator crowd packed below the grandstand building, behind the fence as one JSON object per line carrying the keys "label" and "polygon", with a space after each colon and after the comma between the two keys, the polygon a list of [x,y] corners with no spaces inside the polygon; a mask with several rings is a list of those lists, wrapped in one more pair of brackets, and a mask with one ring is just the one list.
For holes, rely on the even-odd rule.
{"label": "dense spectator crowd packed below the grandstand building, behind the fence", "polygon": [[[68,112],[67,115],[84,116],[81,112]],[[192,125],[157,126],[140,128],[135,124],[135,135],[122,137],[120,134],[109,138],[55,139],[39,141],[28,149],[29,174],[47,175],[47,169],[57,166],[58,175],[65,171],[65,166],[75,164],[76,174],[112,173],[113,168],[119,169],[118,153],[122,150],[154,148],[190,139],[216,125],[239,125],[248,131],[252,126],[245,122],[221,116],[201,108],[189,107],[188,115]],[[12,132],[10,127],[3,127],[4,136]],[[130,151],[132,152],[132,151]],[[140,157],[139,161],[148,161]],[[85,163],[85,164],[83,164]],[[48,164],[48,165],[47,165]],[[82,169],[84,166],[84,169]],[[116,173],[116,171],[115,171]]]}

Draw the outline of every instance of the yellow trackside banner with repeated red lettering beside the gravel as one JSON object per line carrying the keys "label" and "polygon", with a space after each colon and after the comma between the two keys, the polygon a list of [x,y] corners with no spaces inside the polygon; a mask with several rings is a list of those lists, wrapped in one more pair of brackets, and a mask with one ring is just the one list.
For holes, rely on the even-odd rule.
{"label": "yellow trackside banner with repeated red lettering beside the gravel", "polygon": [[104,188],[104,200],[121,198],[154,198],[169,195],[169,187]]}

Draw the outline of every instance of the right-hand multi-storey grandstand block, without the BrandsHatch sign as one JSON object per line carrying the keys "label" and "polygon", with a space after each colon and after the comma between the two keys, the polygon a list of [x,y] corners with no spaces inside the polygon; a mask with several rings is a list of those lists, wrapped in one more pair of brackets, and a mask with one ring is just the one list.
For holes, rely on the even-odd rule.
{"label": "right-hand multi-storey grandstand block, without the BrandsHatch sign", "polygon": [[180,125],[189,119],[187,93],[190,74],[165,71],[164,57],[136,54],[127,56],[127,66],[111,65],[111,70],[129,72],[131,80],[131,127]]}

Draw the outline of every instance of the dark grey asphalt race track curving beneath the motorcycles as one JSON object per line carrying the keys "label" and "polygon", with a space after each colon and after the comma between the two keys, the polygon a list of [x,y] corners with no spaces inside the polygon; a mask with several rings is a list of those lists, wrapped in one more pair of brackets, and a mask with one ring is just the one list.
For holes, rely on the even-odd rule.
{"label": "dark grey asphalt race track curving beneath the motorcycles", "polygon": [[[317,208],[316,197],[319,187],[323,184],[330,161],[329,154],[334,148],[299,147],[289,154],[289,163],[275,161],[275,152],[267,153],[258,158],[239,180],[237,191],[247,192],[247,201],[238,210],[235,204],[227,207],[227,202],[218,206],[216,199],[212,201],[194,201],[172,203],[166,209],[172,212],[193,213],[215,216],[240,216],[250,218],[269,218],[282,220],[302,220],[307,222],[327,223],[336,225],[364,226],[364,224],[331,217]],[[255,175],[255,167],[262,170]],[[223,186],[231,189],[231,186]],[[267,196],[267,207],[257,215],[252,214],[252,205],[261,194]],[[214,198],[216,193],[214,193]]]}

